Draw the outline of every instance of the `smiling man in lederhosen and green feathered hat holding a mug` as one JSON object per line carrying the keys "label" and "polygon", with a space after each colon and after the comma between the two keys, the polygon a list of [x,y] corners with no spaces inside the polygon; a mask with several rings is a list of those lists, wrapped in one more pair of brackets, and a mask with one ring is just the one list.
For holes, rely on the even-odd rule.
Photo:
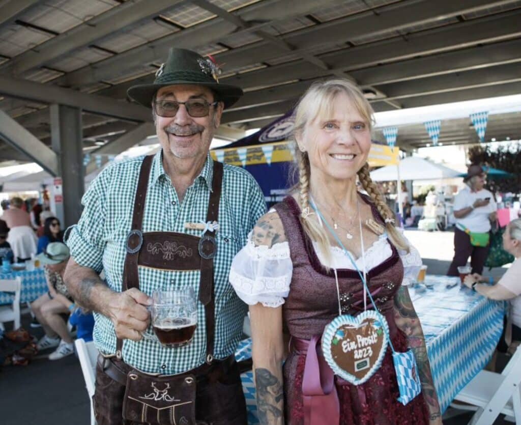
{"label": "smiling man in lederhosen and green feathered hat holding a mug", "polygon": [[[219,83],[219,72],[209,58],[172,48],[153,84],[129,89],[132,99],[152,106],[162,149],[107,167],[71,228],[65,280],[76,302],[95,312],[94,341],[103,355],[98,425],[246,423],[233,358],[246,306],[228,272],[266,206],[250,174],[223,170],[210,158],[223,108],[242,95]],[[150,332],[153,290],[189,287],[199,299],[192,342],[166,348],[142,339]]]}

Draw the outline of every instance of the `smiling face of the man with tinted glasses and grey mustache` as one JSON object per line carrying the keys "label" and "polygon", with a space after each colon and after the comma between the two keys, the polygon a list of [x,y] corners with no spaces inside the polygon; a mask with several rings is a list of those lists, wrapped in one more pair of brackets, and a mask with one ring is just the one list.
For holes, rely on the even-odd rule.
{"label": "smiling face of the man with tinted glasses and grey mustache", "polygon": [[[189,100],[212,103],[214,94],[206,87],[183,84],[159,89],[155,99],[156,102]],[[210,105],[208,114],[203,117],[191,116],[182,104],[173,117],[156,115],[156,133],[163,152],[179,159],[206,157],[214,131],[219,126],[221,114],[222,103]]]}

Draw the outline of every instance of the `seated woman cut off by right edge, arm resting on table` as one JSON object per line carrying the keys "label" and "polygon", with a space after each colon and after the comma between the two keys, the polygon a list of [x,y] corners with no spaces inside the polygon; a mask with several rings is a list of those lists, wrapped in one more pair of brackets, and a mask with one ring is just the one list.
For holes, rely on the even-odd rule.
{"label": "seated woman cut off by right edge, arm resting on table", "polygon": [[[503,233],[503,248],[510,252],[515,261],[495,285],[484,285],[489,282],[478,273],[465,277],[465,285],[481,295],[494,300],[510,300],[512,305],[512,339],[521,341],[521,218],[511,221]],[[498,344],[498,351],[506,353],[505,329]]]}

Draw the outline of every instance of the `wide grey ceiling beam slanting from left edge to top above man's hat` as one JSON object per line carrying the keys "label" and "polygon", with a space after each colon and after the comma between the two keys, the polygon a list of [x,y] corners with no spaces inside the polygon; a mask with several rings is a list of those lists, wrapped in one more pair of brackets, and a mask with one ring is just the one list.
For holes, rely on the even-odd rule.
{"label": "wide grey ceiling beam slanting from left edge to top above man's hat", "polygon": [[[9,60],[2,68],[12,75],[51,62],[83,46],[88,46],[106,35],[114,33],[140,20],[156,16],[160,11],[175,7],[184,0],[134,0],[113,7],[80,25],[63,32],[35,48]],[[17,3],[20,3],[19,1]],[[27,2],[26,2],[27,3]],[[33,2],[34,3],[34,2]]]}

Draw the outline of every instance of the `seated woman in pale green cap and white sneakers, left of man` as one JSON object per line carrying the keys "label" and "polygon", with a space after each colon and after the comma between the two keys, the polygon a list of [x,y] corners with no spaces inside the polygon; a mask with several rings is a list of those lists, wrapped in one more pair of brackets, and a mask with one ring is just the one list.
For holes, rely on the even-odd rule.
{"label": "seated woman in pale green cap and white sneakers, left of man", "polygon": [[44,264],[49,290],[47,294],[31,303],[31,309],[45,331],[36,348],[45,350],[58,347],[49,355],[49,360],[58,360],[74,353],[67,322],[62,317],[62,314],[67,314],[76,307],[63,281],[69,256],[69,248],[65,244],[51,242],[47,249],[36,257]]}

